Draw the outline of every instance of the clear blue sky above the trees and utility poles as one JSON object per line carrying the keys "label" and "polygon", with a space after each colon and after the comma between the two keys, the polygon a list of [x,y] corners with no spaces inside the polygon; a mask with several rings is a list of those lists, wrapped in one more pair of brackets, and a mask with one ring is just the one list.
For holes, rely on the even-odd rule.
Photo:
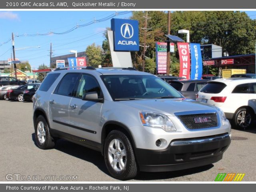
{"label": "clear blue sky above the trees and utility poles", "polygon": [[[38,68],[43,63],[49,65],[50,42],[54,56],[69,54],[71,49],[84,51],[92,43],[102,45],[103,32],[106,27],[110,27],[110,20],[77,28],[68,34],[46,36],[28,36],[28,34],[52,31],[61,33],[76,25],[106,18],[115,13],[115,11],[0,11],[0,60],[11,57],[12,42],[2,43],[11,38],[12,32],[17,36],[16,49],[32,47],[16,50],[16,58],[28,60],[32,69]],[[256,11],[246,11],[246,13],[252,19],[256,19]],[[117,15],[115,18],[129,18],[131,15],[131,13]]]}

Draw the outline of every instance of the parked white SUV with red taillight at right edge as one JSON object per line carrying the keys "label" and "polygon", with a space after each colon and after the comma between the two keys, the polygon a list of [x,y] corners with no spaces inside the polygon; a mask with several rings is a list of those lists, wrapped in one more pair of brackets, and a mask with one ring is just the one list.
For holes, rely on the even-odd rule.
{"label": "parked white SUV with red taillight at right edge", "polygon": [[238,128],[248,128],[256,112],[256,79],[229,78],[209,81],[197,101],[221,108]]}

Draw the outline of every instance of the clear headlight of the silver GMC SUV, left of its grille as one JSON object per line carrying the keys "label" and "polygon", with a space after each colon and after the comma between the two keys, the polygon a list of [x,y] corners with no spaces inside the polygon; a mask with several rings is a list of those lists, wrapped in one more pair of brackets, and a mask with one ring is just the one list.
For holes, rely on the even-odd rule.
{"label": "clear headlight of the silver GMC SUV, left of its grille", "polygon": [[156,112],[140,111],[140,120],[144,126],[159,127],[165,131],[176,131],[168,116]]}

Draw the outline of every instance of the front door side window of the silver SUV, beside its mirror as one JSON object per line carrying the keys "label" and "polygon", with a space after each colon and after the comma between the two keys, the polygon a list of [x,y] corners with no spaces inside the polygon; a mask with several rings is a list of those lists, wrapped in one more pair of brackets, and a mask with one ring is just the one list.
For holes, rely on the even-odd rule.
{"label": "front door side window of the silver SUV, beside its mirror", "polygon": [[76,97],[83,98],[84,94],[95,91],[97,92],[98,96],[100,96],[100,86],[98,85],[96,79],[94,79],[92,76],[83,74],[76,91]]}

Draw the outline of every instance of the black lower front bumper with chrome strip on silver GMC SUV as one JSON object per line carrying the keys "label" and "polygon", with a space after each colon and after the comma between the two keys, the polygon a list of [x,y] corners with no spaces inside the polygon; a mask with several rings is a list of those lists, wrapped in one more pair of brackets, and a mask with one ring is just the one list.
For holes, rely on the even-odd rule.
{"label": "black lower front bumper with chrome strip on silver GMC SUV", "polygon": [[228,133],[172,140],[165,150],[135,149],[140,171],[165,172],[212,164],[222,159],[230,145]]}

